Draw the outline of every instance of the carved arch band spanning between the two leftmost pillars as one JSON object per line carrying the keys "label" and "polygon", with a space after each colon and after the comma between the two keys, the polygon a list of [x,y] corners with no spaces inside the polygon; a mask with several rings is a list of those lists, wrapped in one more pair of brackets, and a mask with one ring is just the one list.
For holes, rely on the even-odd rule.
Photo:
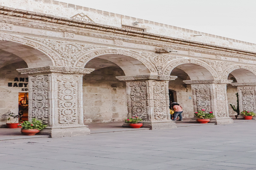
{"label": "carved arch band spanning between the two leftmost pillars", "polygon": [[75,67],[85,67],[86,64],[93,58],[99,57],[102,55],[111,55],[111,54],[125,55],[128,57],[132,57],[132,58],[140,61],[145,66],[145,68],[147,68],[149,70],[149,74],[157,75],[157,69],[151,61],[149,61],[145,57],[143,57],[135,52],[131,52],[131,51],[124,50],[124,49],[111,49],[111,48],[102,49],[101,48],[101,49],[90,50],[90,52],[87,52],[83,56],[79,57],[77,59],[77,61],[75,62],[74,66]]}

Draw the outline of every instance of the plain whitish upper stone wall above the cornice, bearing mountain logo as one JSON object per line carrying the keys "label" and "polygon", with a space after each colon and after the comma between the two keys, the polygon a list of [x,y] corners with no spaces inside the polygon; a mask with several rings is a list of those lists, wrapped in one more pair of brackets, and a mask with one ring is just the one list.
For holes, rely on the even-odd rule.
{"label": "plain whitish upper stone wall above the cornice, bearing mountain logo", "polygon": [[1,0],[0,5],[65,18],[71,18],[77,14],[83,13],[86,15],[84,19],[90,19],[98,24],[119,28],[122,27],[122,25],[135,27],[134,22],[139,22],[136,27],[146,29],[146,32],[148,33],[256,52],[256,44],[254,43],[243,42],[54,0]]}

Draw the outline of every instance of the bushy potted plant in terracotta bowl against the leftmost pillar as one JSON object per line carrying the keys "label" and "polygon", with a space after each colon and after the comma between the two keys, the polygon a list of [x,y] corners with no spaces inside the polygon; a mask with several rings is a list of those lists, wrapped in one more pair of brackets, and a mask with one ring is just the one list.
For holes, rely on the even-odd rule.
{"label": "bushy potted plant in terracotta bowl against the leftmost pillar", "polygon": [[47,127],[47,125],[42,124],[42,121],[37,120],[35,118],[32,119],[32,122],[24,121],[22,124],[19,124],[19,126],[22,127],[21,133],[23,133],[25,135],[29,135],[29,136],[35,135],[40,130]]}

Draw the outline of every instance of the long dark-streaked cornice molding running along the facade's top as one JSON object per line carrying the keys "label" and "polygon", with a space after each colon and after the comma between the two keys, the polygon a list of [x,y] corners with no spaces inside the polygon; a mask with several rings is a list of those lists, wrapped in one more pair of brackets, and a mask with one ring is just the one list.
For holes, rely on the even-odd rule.
{"label": "long dark-streaked cornice molding running along the facade's top", "polygon": [[25,11],[25,10],[19,10],[19,9],[4,7],[4,6],[0,6],[0,13],[1,13],[1,15],[15,16],[15,17],[20,17],[20,18],[25,18],[25,19],[30,19],[30,20],[36,20],[37,22],[42,21],[42,22],[48,22],[48,23],[56,23],[56,24],[61,24],[61,25],[75,26],[75,27],[79,27],[79,28],[86,28],[86,29],[97,30],[97,31],[104,31],[104,32],[109,32],[109,33],[114,33],[114,34],[128,35],[128,36],[146,38],[146,39],[151,39],[151,40],[158,40],[158,41],[163,41],[163,42],[171,42],[171,43],[178,43],[178,44],[182,44],[182,45],[189,45],[189,46],[193,46],[193,47],[202,47],[202,48],[215,49],[215,50],[220,50],[220,51],[256,56],[256,53],[252,52],[252,51],[240,50],[240,49],[235,49],[235,48],[230,48],[230,47],[223,47],[223,46],[219,46],[219,45],[213,45],[213,44],[202,43],[202,42],[194,42],[194,41],[189,41],[189,40],[183,40],[183,39],[161,36],[161,35],[156,35],[156,34],[150,34],[150,33],[145,33],[145,32],[140,32],[140,31],[128,30],[128,29],[123,29],[123,28],[118,28],[118,27],[106,26],[106,25],[102,25],[102,24],[90,23],[90,22],[85,22],[85,21],[78,21],[78,20],[74,20],[74,19],[57,17],[57,16],[53,16],[53,15],[36,13],[36,12]]}

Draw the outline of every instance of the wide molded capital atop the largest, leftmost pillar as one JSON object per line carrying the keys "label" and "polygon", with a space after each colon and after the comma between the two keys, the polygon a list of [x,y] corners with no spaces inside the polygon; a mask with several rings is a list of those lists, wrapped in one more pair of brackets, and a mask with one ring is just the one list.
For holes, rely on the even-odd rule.
{"label": "wide molded capital atop the largest, leftmost pillar", "polygon": [[63,74],[90,74],[93,68],[48,66],[17,69],[21,74],[63,73]]}

